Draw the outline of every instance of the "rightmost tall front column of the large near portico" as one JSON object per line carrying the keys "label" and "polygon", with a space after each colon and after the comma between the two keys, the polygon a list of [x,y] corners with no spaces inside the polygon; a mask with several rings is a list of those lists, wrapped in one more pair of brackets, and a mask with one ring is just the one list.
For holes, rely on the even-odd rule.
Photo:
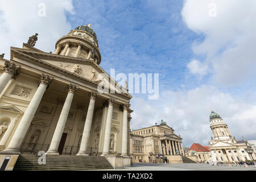
{"label": "rightmost tall front column of the large near portico", "polygon": [[127,156],[127,139],[128,139],[128,109],[130,104],[123,105],[123,131],[122,131],[122,156]]}

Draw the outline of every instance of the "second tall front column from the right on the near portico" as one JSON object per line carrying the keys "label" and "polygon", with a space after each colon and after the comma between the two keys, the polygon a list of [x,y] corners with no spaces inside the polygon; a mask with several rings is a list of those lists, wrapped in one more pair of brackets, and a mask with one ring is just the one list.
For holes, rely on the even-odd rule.
{"label": "second tall front column from the right on the near portico", "polygon": [[115,100],[113,98],[110,98],[108,102],[109,102],[109,109],[108,109],[108,115],[106,118],[104,147],[103,147],[103,152],[101,156],[109,155],[111,123],[112,123],[113,106],[114,106]]}

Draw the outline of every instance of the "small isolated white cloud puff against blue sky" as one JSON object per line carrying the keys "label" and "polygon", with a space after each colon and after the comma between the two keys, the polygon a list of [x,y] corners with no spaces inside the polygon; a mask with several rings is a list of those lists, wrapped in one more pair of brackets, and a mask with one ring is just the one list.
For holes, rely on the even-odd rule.
{"label": "small isolated white cloud puff against blue sky", "polygon": [[199,75],[200,77],[207,74],[208,66],[200,63],[200,61],[193,59],[188,63],[187,68],[193,75]]}

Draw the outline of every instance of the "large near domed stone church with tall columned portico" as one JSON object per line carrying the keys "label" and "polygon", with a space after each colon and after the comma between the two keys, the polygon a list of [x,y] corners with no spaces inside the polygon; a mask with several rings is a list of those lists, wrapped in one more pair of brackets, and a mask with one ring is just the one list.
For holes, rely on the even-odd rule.
{"label": "large near domed stone church with tall columned portico", "polygon": [[13,169],[40,151],[51,160],[90,159],[94,168],[130,166],[132,97],[100,67],[90,24],[57,40],[54,53],[35,48],[37,36],[11,47],[10,60],[0,57],[0,166],[7,157]]}

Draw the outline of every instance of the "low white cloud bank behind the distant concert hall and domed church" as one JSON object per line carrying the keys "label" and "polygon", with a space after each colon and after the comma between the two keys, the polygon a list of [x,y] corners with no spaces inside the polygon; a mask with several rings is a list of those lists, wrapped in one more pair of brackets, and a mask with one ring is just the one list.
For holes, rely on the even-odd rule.
{"label": "low white cloud bank behind the distant concert hall and domed church", "polygon": [[256,106],[251,106],[221,92],[214,86],[202,85],[188,91],[165,91],[159,100],[147,101],[142,98],[131,100],[131,129],[139,129],[160,123],[163,119],[183,138],[184,146],[192,143],[208,145],[212,131],[209,114],[213,108],[228,124],[230,133],[237,139],[245,136],[254,139],[256,135]]}

